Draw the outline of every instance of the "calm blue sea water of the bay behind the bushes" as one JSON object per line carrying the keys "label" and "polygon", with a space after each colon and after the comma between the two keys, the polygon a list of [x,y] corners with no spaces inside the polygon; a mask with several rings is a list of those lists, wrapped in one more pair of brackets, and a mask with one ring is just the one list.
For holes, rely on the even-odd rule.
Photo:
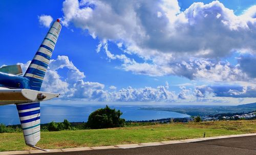
{"label": "calm blue sea water of the bay behind the bushes", "polygon": [[[61,122],[68,119],[70,122],[86,122],[88,116],[99,108],[104,108],[105,105],[44,105],[41,104],[41,123],[49,123],[51,121]],[[114,105],[109,106],[120,110],[123,114],[121,118],[125,120],[152,120],[161,118],[183,118],[189,115],[167,111],[152,111],[141,110],[148,106],[133,106],[133,105]],[[6,125],[19,124],[19,118],[15,105],[0,106],[0,123]]]}

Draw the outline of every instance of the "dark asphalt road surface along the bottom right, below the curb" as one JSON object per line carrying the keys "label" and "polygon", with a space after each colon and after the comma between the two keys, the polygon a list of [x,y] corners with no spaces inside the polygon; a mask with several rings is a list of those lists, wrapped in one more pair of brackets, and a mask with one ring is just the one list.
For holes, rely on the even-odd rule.
{"label": "dark asphalt road surface along the bottom right, below the curb", "polygon": [[[38,153],[37,155],[46,153]],[[206,140],[192,143],[167,144],[159,146],[146,146],[137,148],[117,148],[104,150],[88,150],[75,152],[56,152],[48,154],[87,154],[87,155],[169,155],[169,154],[206,154],[206,155],[226,155],[226,154],[246,154],[256,155],[256,136],[224,138]]]}

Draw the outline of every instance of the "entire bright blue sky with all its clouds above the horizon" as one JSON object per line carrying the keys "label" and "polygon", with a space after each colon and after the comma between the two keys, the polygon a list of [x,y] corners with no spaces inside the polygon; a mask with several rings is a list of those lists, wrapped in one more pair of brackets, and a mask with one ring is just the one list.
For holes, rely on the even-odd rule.
{"label": "entire bright blue sky with all its clouds above the horizon", "polygon": [[[196,2],[203,2],[196,3]],[[256,101],[255,1],[3,1],[0,66],[62,30],[42,90],[60,100]]]}

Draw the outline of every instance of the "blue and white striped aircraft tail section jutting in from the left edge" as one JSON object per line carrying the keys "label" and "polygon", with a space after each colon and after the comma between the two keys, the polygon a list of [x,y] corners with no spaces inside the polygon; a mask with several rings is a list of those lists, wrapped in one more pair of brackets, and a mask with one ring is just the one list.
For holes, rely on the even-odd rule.
{"label": "blue and white striped aircraft tail section jutting in from the left edge", "polygon": [[25,143],[36,147],[40,140],[40,102],[60,94],[40,91],[53,49],[61,30],[60,20],[51,26],[24,76],[20,65],[0,68],[0,106],[15,104]]}

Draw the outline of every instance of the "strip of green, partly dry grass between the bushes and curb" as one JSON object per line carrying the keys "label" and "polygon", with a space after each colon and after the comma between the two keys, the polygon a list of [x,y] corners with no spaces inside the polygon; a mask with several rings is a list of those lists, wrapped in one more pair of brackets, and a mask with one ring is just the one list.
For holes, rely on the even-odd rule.
{"label": "strip of green, partly dry grass between the bushes and curb", "polygon": [[[143,142],[160,142],[189,138],[256,133],[256,120],[171,123],[136,127],[41,132],[38,147],[69,148],[107,146]],[[0,151],[32,149],[24,143],[22,133],[0,134]]]}

